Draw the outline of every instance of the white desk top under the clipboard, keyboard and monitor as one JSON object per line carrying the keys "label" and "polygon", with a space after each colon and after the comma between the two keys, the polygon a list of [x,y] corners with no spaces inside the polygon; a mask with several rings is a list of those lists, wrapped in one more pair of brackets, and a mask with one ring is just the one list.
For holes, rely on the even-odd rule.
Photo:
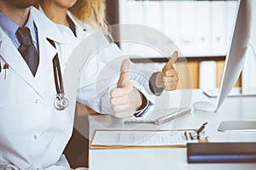
{"label": "white desk top under the clipboard, keyboard and monitor", "polygon": [[[156,101],[160,99],[170,99],[170,106],[180,105],[183,98],[185,105],[192,105],[198,100],[210,100],[201,90],[176,90],[174,92],[165,92]],[[167,122],[160,129],[180,128],[198,128],[203,122],[208,122],[206,134],[209,135],[211,142],[241,142],[256,141],[256,133],[220,133],[218,125],[225,120],[256,120],[256,97],[228,98],[218,113],[207,113],[201,111],[192,111],[188,116],[179,117],[172,122]],[[155,109],[162,107],[161,104],[155,106]],[[95,129],[154,129],[151,124],[124,124],[123,119],[117,119],[112,116],[89,116],[90,139]],[[188,164],[186,149],[168,148],[168,149],[114,149],[114,150],[89,150],[90,170],[186,170],[186,169],[256,169],[256,163],[249,164]]]}

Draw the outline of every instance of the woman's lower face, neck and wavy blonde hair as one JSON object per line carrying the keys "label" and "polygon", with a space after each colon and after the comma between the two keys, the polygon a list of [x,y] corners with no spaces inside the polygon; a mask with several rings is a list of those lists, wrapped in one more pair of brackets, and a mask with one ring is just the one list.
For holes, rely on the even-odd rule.
{"label": "woman's lower face, neck and wavy blonde hair", "polygon": [[75,37],[84,37],[84,31],[107,26],[104,0],[40,0],[39,5],[50,20],[69,27]]}

